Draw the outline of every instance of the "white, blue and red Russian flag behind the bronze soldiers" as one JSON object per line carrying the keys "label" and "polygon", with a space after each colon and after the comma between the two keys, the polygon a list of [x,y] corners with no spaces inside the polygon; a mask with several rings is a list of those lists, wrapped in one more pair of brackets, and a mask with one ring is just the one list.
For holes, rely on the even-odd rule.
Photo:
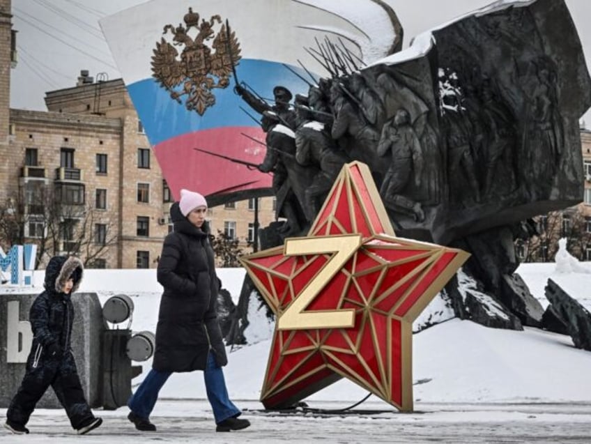
{"label": "white, blue and red Russian flag behind the bronze soldiers", "polygon": [[[360,58],[386,56],[394,40],[391,17],[376,0],[152,0],[100,21],[114,60],[123,75],[137,114],[174,196],[185,187],[206,196],[269,189],[271,178],[256,169],[216,158],[194,148],[213,151],[253,164],[262,162],[266,148],[243,136],[264,141],[260,126],[240,107],[252,111],[233,92],[236,79],[225,89],[212,89],[215,105],[203,115],[187,109],[153,77],[152,56],[162,38],[173,43],[164,26],[185,26],[189,8],[199,20],[219,15],[227,20],[240,44],[236,77],[273,104],[273,87],[286,86],[295,95],[307,94],[312,82],[302,70],[327,76],[307,49],[326,37],[344,42]],[[216,22],[217,23],[217,22]],[[219,33],[221,24],[213,31]],[[195,38],[197,31],[187,34]],[[211,40],[204,40],[210,47]],[[174,45],[180,54],[183,45]],[[213,49],[212,49],[213,51]],[[181,86],[182,88],[182,86]]]}

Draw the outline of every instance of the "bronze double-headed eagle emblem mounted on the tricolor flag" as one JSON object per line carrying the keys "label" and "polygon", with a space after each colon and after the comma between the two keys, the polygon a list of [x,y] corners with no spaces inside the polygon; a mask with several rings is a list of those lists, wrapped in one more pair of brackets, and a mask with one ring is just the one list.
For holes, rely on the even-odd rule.
{"label": "bronze double-headed eagle emblem mounted on the tricolor flag", "polygon": [[[199,14],[189,8],[183,20],[185,26],[182,23],[176,28],[171,24],[164,26],[162,34],[165,36],[170,31],[172,43],[164,37],[156,42],[152,75],[169,91],[171,98],[182,103],[181,98],[186,95],[187,109],[203,116],[206,109],[215,104],[211,90],[229,85],[229,77],[240,60],[240,43],[230,31],[228,21],[222,24],[220,15],[213,15],[208,21],[201,19],[199,23]],[[213,29],[216,22],[222,24],[217,34]],[[180,59],[175,46],[184,46]]]}

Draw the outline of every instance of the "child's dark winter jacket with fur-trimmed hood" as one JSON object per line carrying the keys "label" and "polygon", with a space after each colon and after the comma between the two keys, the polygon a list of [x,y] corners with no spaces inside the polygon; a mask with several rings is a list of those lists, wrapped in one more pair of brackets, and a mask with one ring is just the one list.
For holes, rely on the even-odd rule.
{"label": "child's dark winter jacket with fur-trimmed hood", "polygon": [[[70,349],[74,307],[70,295],[74,293],[82,280],[84,266],[77,257],[52,257],[45,268],[45,291],[37,296],[31,305],[29,321],[33,330],[33,344],[29,361],[45,357],[44,349],[56,342],[62,351]],[[64,284],[70,278],[74,286],[70,294],[62,292]]]}

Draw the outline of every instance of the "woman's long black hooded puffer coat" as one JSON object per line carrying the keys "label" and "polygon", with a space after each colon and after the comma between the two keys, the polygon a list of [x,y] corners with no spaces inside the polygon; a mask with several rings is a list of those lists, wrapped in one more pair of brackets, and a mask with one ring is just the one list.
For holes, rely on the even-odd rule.
{"label": "woman's long black hooded puffer coat", "polygon": [[212,351],[218,366],[228,360],[217,321],[217,277],[208,226],[195,227],[170,208],[174,231],[164,239],[158,282],[164,287],[152,367],[160,372],[204,370]]}

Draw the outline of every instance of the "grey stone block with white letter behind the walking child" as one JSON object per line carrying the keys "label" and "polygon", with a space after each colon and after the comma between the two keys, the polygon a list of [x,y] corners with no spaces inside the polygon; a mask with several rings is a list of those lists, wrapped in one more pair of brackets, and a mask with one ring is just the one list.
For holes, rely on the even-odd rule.
{"label": "grey stone block with white letter behind the walking child", "polygon": [[[6,408],[24,376],[26,357],[31,349],[29,309],[38,293],[0,294],[0,407]],[[84,395],[92,408],[102,404],[102,337],[105,321],[96,293],[72,295],[75,318],[72,351]],[[61,408],[52,389],[47,390],[38,408]]]}

